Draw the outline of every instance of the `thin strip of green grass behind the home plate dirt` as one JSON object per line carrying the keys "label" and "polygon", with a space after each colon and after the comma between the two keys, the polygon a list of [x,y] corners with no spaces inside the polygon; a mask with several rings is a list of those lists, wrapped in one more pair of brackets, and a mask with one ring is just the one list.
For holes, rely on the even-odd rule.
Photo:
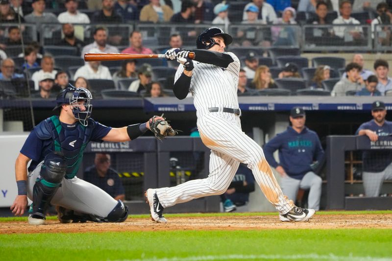
{"label": "thin strip of green grass behind the home plate dirt", "polygon": [[[392,214],[390,210],[380,211],[318,211],[317,215],[341,215],[341,214]],[[189,214],[165,214],[166,217],[206,217],[206,216],[260,216],[260,215],[277,215],[277,212],[249,212],[249,213],[189,213]],[[148,214],[130,215],[134,218],[149,218]],[[57,216],[48,216],[50,219],[57,219]],[[0,222],[25,221],[26,216],[17,217],[0,217]]]}

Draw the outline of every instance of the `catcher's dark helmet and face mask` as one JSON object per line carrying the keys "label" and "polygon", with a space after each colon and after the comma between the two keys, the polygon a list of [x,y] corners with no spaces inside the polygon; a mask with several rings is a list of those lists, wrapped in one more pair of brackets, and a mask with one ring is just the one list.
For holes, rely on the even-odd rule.
{"label": "catcher's dark helmet and face mask", "polygon": [[76,88],[70,84],[70,87],[65,88],[57,95],[57,106],[53,110],[60,108],[63,104],[69,104],[72,106],[75,119],[79,120],[83,126],[87,126],[93,110],[92,99],[93,96],[89,90],[82,87]]}

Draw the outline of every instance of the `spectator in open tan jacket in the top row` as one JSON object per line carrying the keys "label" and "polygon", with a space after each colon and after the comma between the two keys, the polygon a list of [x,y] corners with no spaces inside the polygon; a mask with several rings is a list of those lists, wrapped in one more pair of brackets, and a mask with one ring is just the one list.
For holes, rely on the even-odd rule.
{"label": "spectator in open tan jacket in the top row", "polygon": [[161,5],[159,0],[150,0],[140,11],[140,22],[168,22],[173,16],[173,10],[168,5]]}

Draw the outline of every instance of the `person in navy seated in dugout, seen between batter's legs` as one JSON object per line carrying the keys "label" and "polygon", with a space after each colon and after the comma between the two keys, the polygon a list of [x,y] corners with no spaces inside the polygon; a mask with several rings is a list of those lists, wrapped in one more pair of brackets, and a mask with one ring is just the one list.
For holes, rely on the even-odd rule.
{"label": "person in navy seated in dugout, seen between batter's legs", "polygon": [[[243,207],[241,212],[246,212],[248,211],[246,205],[249,201],[249,193],[253,191],[254,177],[252,171],[247,168],[245,164],[241,163],[229,188],[224,192],[224,197],[226,200],[233,202],[238,211],[240,211],[238,207]],[[227,204],[225,204],[225,202],[223,202],[223,208],[225,212],[227,212]]]}

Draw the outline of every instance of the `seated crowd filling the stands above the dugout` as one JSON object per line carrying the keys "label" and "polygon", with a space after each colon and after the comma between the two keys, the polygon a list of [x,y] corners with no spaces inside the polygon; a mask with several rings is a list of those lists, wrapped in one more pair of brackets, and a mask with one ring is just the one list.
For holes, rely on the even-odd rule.
{"label": "seated crowd filling the stands above the dugout", "polygon": [[[91,90],[98,98],[110,94],[101,93],[103,89],[121,90],[119,97],[172,96],[175,61],[85,63],[82,57],[86,52],[151,54],[170,47],[194,48],[200,30],[217,24],[233,35],[228,51],[237,54],[243,65],[239,95],[390,95],[388,61],[378,59],[368,70],[366,54],[354,54],[346,64],[331,53],[312,59],[310,65],[301,56],[294,26],[312,25],[302,33],[314,45],[360,47],[367,37],[376,37],[380,46],[390,46],[391,4],[390,0],[0,0],[0,80],[19,79],[33,98],[52,97],[80,77],[85,86],[93,80]],[[174,29],[168,30],[167,23]],[[31,25],[36,30],[30,30]],[[362,25],[371,25],[371,32]],[[43,79],[48,73],[50,77]],[[43,80],[53,84],[43,90]],[[7,95],[28,93],[20,89],[7,90]]]}

